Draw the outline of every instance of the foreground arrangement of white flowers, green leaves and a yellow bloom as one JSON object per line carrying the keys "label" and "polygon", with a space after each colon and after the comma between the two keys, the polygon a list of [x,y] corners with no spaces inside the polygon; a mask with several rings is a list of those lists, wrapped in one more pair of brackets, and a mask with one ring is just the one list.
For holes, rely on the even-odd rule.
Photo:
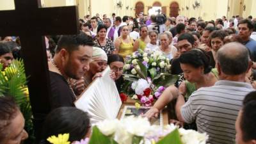
{"label": "foreground arrangement of white flowers, green leaves and a yellow bloom", "polygon": [[90,138],[85,140],[68,141],[68,138],[69,134],[58,134],[47,141],[52,144],[205,144],[208,136],[173,124],[150,125],[147,118],[129,116],[97,123]]}

